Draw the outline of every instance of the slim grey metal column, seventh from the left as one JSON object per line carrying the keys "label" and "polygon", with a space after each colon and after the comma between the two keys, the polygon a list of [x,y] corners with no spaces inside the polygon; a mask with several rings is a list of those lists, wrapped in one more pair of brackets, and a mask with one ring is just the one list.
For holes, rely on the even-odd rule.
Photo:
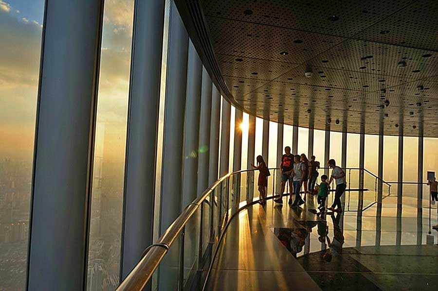
{"label": "slim grey metal column, seventh from the left", "polygon": [[219,176],[222,177],[228,173],[230,162],[230,121],[231,121],[231,104],[225,99],[222,101],[222,127],[220,137],[220,164]]}

